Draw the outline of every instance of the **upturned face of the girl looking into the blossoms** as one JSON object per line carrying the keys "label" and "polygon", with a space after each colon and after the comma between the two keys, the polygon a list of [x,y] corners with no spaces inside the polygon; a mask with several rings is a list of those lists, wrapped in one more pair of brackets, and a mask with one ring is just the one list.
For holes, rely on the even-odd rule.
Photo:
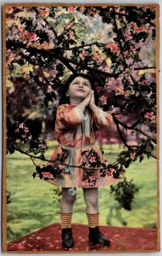
{"label": "upturned face of the girl looking into the blossoms", "polygon": [[70,102],[82,102],[86,96],[89,95],[91,90],[91,84],[88,79],[77,77],[72,80],[67,90],[67,96],[69,96]]}

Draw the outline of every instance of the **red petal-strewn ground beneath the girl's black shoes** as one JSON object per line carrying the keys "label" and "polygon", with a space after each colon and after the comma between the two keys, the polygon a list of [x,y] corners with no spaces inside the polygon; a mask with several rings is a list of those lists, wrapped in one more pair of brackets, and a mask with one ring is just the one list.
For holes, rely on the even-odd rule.
{"label": "red petal-strewn ground beneath the girl's black shoes", "polygon": [[[156,229],[137,229],[101,226],[101,232],[112,241],[111,247],[96,245],[91,247],[88,241],[88,226],[72,225],[75,246],[70,252],[149,252],[158,251]],[[26,252],[65,252],[61,247],[61,225],[51,224],[41,230],[21,237],[8,244],[9,251]]]}

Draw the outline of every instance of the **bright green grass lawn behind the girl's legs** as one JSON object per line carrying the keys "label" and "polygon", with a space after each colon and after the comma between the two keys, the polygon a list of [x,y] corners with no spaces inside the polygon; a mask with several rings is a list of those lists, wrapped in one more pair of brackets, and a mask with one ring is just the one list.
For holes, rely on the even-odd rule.
{"label": "bright green grass lawn behind the girl's legs", "polygon": [[[49,158],[54,143],[48,143]],[[107,159],[112,163],[121,149],[104,145]],[[25,236],[43,226],[60,221],[60,203],[55,201],[55,186],[39,178],[32,178],[35,168],[32,160],[23,154],[8,155],[7,189],[11,202],[7,205],[8,241]],[[100,224],[128,227],[150,227],[157,225],[157,179],[156,160],[135,162],[127,169],[126,177],[140,187],[132,204],[132,210],[119,208],[119,203],[110,195],[109,187],[102,187],[100,195]],[[82,189],[78,189],[77,201],[72,217],[73,223],[87,224]]]}

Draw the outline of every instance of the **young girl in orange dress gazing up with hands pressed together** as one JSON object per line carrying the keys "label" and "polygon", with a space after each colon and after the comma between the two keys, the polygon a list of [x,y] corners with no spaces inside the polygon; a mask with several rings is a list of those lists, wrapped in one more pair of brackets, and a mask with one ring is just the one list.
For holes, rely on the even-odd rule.
{"label": "young girl in orange dress gazing up with hands pressed together", "polygon": [[[55,132],[59,145],[51,157],[51,160],[56,160],[54,166],[57,164],[61,173],[48,180],[49,183],[62,187],[63,247],[74,246],[71,223],[76,188],[82,188],[84,192],[90,229],[89,241],[94,244],[110,245],[109,239],[99,230],[98,187],[113,183],[116,179],[113,178],[110,170],[101,171],[101,166],[107,166],[107,160],[94,143],[95,131],[107,130],[113,123],[113,117],[97,105],[95,81],[84,73],[72,74],[67,80],[60,99],[60,107],[57,109]],[[94,171],[93,166],[95,166]]]}

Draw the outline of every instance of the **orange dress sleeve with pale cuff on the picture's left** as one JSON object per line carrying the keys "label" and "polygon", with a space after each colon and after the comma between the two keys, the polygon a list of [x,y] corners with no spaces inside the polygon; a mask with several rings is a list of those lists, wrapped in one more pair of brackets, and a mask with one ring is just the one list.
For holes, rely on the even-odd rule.
{"label": "orange dress sleeve with pale cuff on the picture's left", "polygon": [[59,129],[73,127],[83,123],[86,119],[87,115],[79,106],[72,108],[68,104],[63,104],[57,109],[55,127]]}

